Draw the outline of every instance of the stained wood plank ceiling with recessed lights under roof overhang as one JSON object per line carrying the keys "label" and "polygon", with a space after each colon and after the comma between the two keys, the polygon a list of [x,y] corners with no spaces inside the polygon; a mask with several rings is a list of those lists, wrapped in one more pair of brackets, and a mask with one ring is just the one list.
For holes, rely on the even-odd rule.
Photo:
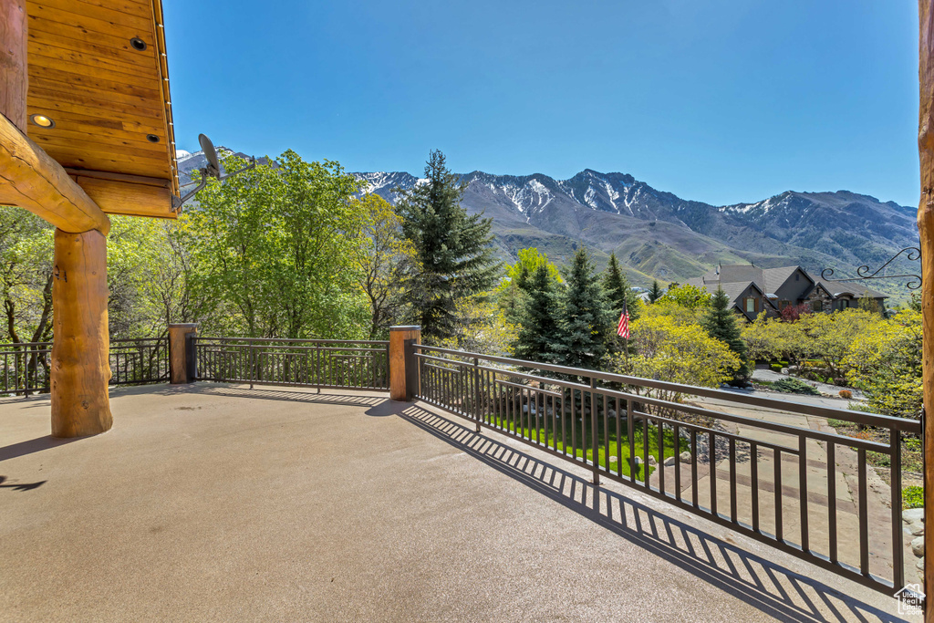
{"label": "stained wood plank ceiling with recessed lights under roof overhang", "polygon": [[175,218],[162,0],[27,0],[26,10],[29,137],[104,212]]}

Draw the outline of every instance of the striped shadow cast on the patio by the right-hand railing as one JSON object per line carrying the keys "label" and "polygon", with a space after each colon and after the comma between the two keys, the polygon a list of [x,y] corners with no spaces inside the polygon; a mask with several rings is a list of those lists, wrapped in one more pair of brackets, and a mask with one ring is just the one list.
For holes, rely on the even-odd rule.
{"label": "striped shadow cast on the patio by the right-hand railing", "polygon": [[785,621],[905,620],[619,493],[594,488],[586,477],[487,434],[418,405],[396,405],[395,413],[420,429],[769,616]]}

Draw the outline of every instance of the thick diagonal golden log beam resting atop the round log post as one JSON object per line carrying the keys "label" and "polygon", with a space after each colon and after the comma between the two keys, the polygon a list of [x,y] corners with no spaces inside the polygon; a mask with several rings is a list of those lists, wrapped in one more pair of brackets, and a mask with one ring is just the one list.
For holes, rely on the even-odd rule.
{"label": "thick diagonal golden log beam resting atop the round log post", "polygon": [[0,115],[0,204],[19,205],[63,232],[110,231],[110,219],[62,165]]}

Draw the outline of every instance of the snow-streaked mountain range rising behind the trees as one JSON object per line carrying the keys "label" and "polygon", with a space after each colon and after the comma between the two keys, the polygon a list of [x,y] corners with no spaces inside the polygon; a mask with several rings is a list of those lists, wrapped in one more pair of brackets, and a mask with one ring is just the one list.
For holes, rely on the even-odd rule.
{"label": "snow-streaked mountain range rising behind the trees", "polygon": [[[182,184],[203,165],[200,152],[179,154]],[[354,175],[364,191],[393,204],[395,189],[425,181],[405,172]],[[493,219],[503,259],[537,247],[564,262],[585,245],[599,263],[615,252],[636,285],[700,276],[717,262],[798,263],[816,274],[834,268],[850,275],[859,265],[881,265],[900,248],[918,244],[914,208],[850,191],[786,191],[751,204],[716,206],[658,191],[627,174],[591,169],[569,179],[482,171],[460,178],[462,204]]]}

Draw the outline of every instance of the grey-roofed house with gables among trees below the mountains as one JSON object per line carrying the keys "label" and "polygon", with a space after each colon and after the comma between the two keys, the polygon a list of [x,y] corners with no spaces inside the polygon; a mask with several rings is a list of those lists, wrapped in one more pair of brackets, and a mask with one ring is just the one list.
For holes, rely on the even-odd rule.
{"label": "grey-roofed house with gables among trees below the mountains", "polygon": [[785,307],[807,304],[814,312],[830,313],[856,307],[862,299],[872,299],[880,312],[887,296],[851,282],[828,282],[814,278],[800,266],[759,268],[752,264],[727,264],[704,276],[686,281],[688,285],[729,296],[733,308],[749,321],[765,312],[779,316]]}

